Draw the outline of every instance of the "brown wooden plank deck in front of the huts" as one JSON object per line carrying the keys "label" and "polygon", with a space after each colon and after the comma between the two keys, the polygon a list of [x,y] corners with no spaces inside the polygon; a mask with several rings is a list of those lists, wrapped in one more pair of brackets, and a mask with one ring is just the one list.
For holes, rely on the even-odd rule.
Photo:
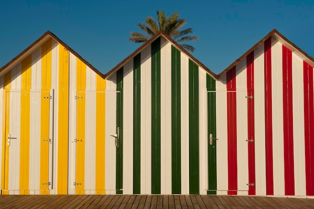
{"label": "brown wooden plank deck in front of the huts", "polygon": [[313,198],[215,195],[0,195],[0,208],[314,208]]}

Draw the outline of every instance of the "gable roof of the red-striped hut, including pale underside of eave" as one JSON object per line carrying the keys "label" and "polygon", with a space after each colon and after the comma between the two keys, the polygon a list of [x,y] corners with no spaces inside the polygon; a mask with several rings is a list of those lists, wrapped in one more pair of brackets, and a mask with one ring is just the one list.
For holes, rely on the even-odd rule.
{"label": "gable roof of the red-striped hut, including pale underside of eave", "polygon": [[236,61],[231,63],[224,71],[222,71],[217,78],[220,78],[225,73],[227,73],[229,70],[231,70],[234,66],[236,66],[244,57],[246,57],[248,54],[250,54],[252,51],[254,51],[259,45],[264,43],[269,37],[274,37],[282,44],[288,45],[289,48],[292,49],[294,52],[299,52],[299,54],[304,57],[304,60],[311,62],[314,64],[314,59],[310,57],[308,54],[306,54],[303,50],[298,48],[295,44],[290,42],[287,38],[285,38],[282,34],[280,34],[276,29],[273,29],[271,32],[269,32],[264,38],[262,38],[259,42],[257,42],[252,48],[250,48],[247,52],[245,52],[241,57],[239,57]]}

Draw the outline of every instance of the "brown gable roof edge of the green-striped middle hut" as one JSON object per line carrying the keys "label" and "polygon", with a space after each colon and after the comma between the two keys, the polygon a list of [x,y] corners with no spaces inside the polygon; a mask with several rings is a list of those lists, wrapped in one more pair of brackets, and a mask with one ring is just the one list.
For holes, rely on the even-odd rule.
{"label": "brown gable roof edge of the green-striped middle hut", "polygon": [[170,38],[164,31],[159,31],[156,33],[153,37],[151,37],[148,41],[146,41],[143,45],[141,45],[137,50],[135,50],[132,54],[130,54],[128,57],[126,57],[122,62],[117,64],[112,70],[110,70],[108,73],[106,73],[103,78],[109,77],[112,73],[119,70],[125,63],[127,63],[130,59],[135,57],[142,49],[144,49],[147,45],[151,44],[153,41],[158,39],[159,37],[163,36],[165,39],[167,39],[169,42],[171,42],[174,46],[176,46],[177,49],[185,53],[188,57],[190,57],[191,60],[193,60],[195,63],[197,63],[199,66],[201,66],[207,73],[209,73],[213,78],[217,79],[217,75],[213,73],[210,69],[208,69],[203,63],[198,61],[194,56],[192,56],[187,50],[185,50],[181,45],[179,45],[177,42],[175,42],[172,38]]}

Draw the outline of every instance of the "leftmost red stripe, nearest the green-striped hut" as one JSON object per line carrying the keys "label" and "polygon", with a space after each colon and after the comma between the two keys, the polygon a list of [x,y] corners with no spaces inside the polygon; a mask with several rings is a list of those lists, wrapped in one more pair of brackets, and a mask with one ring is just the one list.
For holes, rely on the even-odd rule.
{"label": "leftmost red stripe, nearest the green-striped hut", "polygon": [[[227,91],[236,90],[236,67],[227,72]],[[236,92],[227,92],[228,194],[237,194],[237,105]]]}

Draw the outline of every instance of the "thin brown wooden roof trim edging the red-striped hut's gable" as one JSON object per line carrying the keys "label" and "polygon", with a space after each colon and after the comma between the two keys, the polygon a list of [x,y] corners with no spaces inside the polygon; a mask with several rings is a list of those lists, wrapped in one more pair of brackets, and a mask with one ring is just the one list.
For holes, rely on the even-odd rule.
{"label": "thin brown wooden roof trim edging the red-striped hut's gable", "polygon": [[217,78],[220,78],[225,73],[227,73],[231,68],[236,66],[244,57],[246,57],[248,54],[250,54],[252,51],[254,51],[260,44],[264,43],[269,37],[277,35],[282,40],[284,40],[286,43],[291,45],[295,50],[299,51],[301,54],[303,54],[307,59],[309,59],[311,62],[314,63],[314,59],[310,57],[308,54],[306,54],[303,50],[298,48],[295,44],[290,42],[287,38],[285,38],[282,34],[280,34],[276,29],[273,29],[271,32],[269,32],[264,38],[262,38],[259,42],[257,42],[252,48],[250,48],[247,52],[245,52],[241,57],[239,57],[236,61],[234,61],[231,65],[229,65],[224,71],[222,71]]}

